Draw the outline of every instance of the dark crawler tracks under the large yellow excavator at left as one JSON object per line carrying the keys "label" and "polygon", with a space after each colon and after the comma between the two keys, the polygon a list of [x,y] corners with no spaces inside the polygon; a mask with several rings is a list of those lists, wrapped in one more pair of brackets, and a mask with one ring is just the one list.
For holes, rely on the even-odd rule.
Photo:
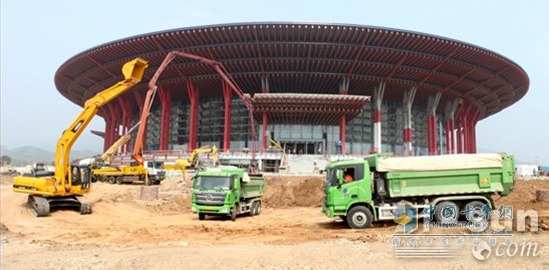
{"label": "dark crawler tracks under the large yellow excavator at left", "polygon": [[37,217],[45,217],[54,209],[73,209],[80,212],[81,215],[92,213],[92,203],[84,197],[42,197],[29,195],[29,205]]}

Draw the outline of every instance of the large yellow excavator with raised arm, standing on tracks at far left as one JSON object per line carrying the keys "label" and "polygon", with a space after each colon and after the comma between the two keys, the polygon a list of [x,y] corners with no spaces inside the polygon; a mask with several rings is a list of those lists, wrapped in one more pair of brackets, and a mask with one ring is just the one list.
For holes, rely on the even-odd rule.
{"label": "large yellow excavator with raised arm, standing on tracks at far left", "polygon": [[29,194],[28,203],[36,216],[48,216],[50,210],[62,207],[76,208],[80,214],[91,214],[91,203],[80,196],[90,192],[90,168],[69,165],[72,145],[99,109],[138,84],[147,67],[148,62],[141,58],[125,63],[122,67],[124,80],[86,100],[83,111],[57,142],[53,176],[17,176],[13,179],[13,191]]}

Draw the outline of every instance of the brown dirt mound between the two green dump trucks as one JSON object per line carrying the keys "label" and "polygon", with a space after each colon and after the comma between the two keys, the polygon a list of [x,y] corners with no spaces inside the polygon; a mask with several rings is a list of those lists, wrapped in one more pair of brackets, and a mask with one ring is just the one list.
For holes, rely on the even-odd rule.
{"label": "brown dirt mound between the two green dump trucks", "polygon": [[271,208],[322,206],[324,178],[321,176],[267,177],[264,204]]}

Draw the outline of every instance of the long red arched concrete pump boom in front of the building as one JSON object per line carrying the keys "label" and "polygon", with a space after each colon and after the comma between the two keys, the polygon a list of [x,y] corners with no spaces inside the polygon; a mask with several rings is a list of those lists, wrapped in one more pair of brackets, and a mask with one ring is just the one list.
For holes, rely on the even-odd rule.
{"label": "long red arched concrete pump boom in front of the building", "polygon": [[[158,77],[160,77],[160,74],[166,69],[168,64],[176,57],[181,56],[185,58],[194,59],[197,61],[200,61],[202,63],[206,63],[210,65],[219,75],[221,78],[231,87],[231,89],[238,95],[238,97],[244,102],[244,105],[246,105],[246,108],[248,108],[248,113],[250,114],[250,123],[251,123],[251,129],[252,129],[252,162],[255,162],[255,151],[256,151],[256,138],[255,138],[255,122],[254,122],[254,115],[253,115],[253,105],[252,102],[248,97],[244,95],[244,92],[240,90],[240,87],[236,84],[236,81],[229,75],[225,67],[217,61],[194,55],[191,53],[183,52],[183,51],[172,51],[166,55],[164,58],[164,61],[162,61],[162,64],[158,67],[156,70],[154,76],[152,77],[151,81],[149,82],[149,90],[147,91],[147,96],[145,98],[145,104],[143,106],[143,112],[141,113],[141,123],[146,123],[147,121],[147,115],[149,114],[149,111],[152,106],[153,97],[157,90],[156,81],[158,80]],[[137,162],[143,163],[143,157],[141,156],[142,148],[143,148],[143,133],[145,131],[145,125],[140,125],[139,130],[137,132],[137,138],[135,142],[135,147],[133,151],[133,157]]]}

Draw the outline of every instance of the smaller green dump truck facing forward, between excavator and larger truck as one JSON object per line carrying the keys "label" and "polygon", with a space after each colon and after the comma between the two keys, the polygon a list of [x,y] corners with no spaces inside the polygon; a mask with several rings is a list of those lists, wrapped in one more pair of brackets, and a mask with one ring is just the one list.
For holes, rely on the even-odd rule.
{"label": "smaller green dump truck facing forward, between excavator and larger truck", "polygon": [[193,213],[204,220],[207,215],[252,216],[261,213],[261,197],[265,193],[265,178],[248,174],[236,167],[214,167],[200,170],[192,179]]}

